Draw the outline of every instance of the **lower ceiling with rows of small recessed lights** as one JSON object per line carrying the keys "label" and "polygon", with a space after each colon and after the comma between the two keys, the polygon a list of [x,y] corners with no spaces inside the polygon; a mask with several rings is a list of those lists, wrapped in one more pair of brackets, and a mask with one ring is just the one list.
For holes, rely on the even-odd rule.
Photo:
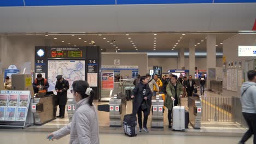
{"label": "lower ceiling with rows of small recessed lights", "polygon": [[[220,43],[223,43],[224,40],[236,35],[236,33],[184,33],[184,34],[185,35],[183,35],[183,33],[117,33],[117,34],[102,34],[102,35],[99,35],[99,34],[51,35],[49,34],[48,36],[44,36],[44,38],[47,40],[53,41],[53,46],[90,46],[91,40],[94,40],[96,43],[95,45],[100,46],[102,51],[104,52],[114,52],[115,50],[118,50],[118,49],[119,49],[118,50],[119,52],[178,52],[180,48],[184,48],[185,52],[188,52],[189,41],[191,39],[194,39],[195,44],[197,45],[196,52],[206,52],[206,40],[207,40],[206,37],[208,34],[214,34],[216,35],[216,45],[218,45],[216,47],[217,52],[222,52],[222,44]],[[54,38],[57,38],[57,39],[54,39]],[[200,44],[197,44],[197,43],[200,43]],[[91,44],[91,46],[92,45],[93,44]],[[154,47],[155,47],[155,50],[154,50]],[[173,47],[175,47],[174,50],[172,50]]]}

